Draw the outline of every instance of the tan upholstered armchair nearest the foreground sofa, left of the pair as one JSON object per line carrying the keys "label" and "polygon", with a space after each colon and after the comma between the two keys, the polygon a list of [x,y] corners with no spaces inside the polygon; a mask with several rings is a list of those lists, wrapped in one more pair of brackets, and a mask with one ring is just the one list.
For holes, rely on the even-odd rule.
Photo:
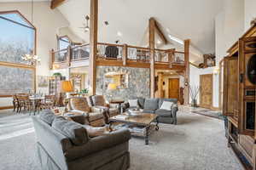
{"label": "tan upholstered armchair nearest the foreground sofa, left of the pair", "polygon": [[88,100],[83,97],[73,97],[69,99],[68,112],[74,114],[84,115],[85,121],[90,126],[103,126],[105,125],[103,109],[91,107]]}

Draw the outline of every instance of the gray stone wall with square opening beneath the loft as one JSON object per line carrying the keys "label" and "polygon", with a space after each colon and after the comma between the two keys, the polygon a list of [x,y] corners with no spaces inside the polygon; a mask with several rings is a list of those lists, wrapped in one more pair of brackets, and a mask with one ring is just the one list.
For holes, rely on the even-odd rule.
{"label": "gray stone wall with square opening beneath the loft", "polygon": [[[125,72],[128,75],[128,87],[108,90],[105,74],[108,72]],[[119,66],[97,66],[96,94],[103,94],[107,99],[135,99],[136,97],[149,98],[150,72],[147,68],[132,68]]]}

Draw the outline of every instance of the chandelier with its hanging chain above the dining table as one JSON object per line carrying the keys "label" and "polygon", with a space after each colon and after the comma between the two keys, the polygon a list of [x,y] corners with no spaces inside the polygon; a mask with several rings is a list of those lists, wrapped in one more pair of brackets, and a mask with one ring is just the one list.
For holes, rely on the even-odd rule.
{"label": "chandelier with its hanging chain above the dining table", "polygon": [[[31,22],[33,24],[33,13],[34,13],[34,1],[32,0],[32,3],[31,3]],[[24,60],[24,61],[27,61],[30,65],[36,65],[36,63],[40,62],[41,59],[39,59],[38,55],[35,55],[34,54],[34,51],[31,50],[31,53],[30,54],[25,54],[25,55],[22,55],[21,56],[21,59]]]}

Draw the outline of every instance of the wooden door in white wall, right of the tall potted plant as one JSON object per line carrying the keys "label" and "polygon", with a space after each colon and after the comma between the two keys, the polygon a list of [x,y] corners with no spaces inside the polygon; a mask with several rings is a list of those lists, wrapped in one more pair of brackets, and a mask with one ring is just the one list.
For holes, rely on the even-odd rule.
{"label": "wooden door in white wall, right of the tall potted plant", "polygon": [[212,107],[212,74],[200,75],[200,106]]}

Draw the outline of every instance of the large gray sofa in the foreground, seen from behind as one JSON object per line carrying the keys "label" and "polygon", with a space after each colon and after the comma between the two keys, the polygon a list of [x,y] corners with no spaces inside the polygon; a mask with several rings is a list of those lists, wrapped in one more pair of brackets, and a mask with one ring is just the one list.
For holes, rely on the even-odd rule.
{"label": "large gray sofa in the foreground, seen from behind", "polygon": [[32,120],[44,170],[126,170],[130,166],[128,130],[90,138],[83,125],[49,112]]}

